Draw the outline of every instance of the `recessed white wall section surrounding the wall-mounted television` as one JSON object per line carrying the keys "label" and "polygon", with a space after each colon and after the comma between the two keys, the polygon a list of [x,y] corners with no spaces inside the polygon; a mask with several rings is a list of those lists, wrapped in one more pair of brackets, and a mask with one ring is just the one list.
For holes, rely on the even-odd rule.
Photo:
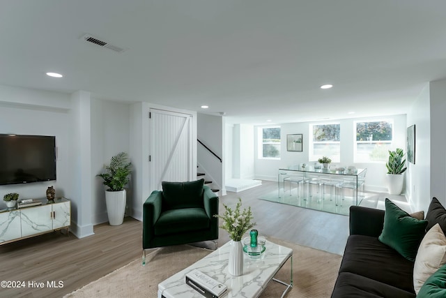
{"label": "recessed white wall section surrounding the wall-mounted television", "polygon": [[[59,102],[58,108],[47,107],[48,98]],[[45,99],[45,100],[43,100]],[[15,103],[17,101],[17,103]],[[52,103],[54,103],[52,102]],[[32,103],[29,105],[27,103]],[[43,105],[39,105],[43,103]],[[17,135],[54,135],[56,137],[56,181],[0,186],[0,197],[6,193],[18,193],[21,199],[46,198],[48,186],[54,186],[56,196],[70,198],[70,98],[67,94],[32,91],[0,86],[0,133]],[[0,208],[6,208],[0,200]]]}

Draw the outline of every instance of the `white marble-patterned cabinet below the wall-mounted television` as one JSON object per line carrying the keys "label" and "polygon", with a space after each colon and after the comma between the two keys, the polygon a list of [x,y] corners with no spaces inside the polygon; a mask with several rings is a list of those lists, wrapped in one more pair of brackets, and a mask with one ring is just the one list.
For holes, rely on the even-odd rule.
{"label": "white marble-patterned cabinet below the wall-mounted television", "polygon": [[20,209],[0,210],[0,245],[45,232],[70,228],[71,205],[66,198]]}

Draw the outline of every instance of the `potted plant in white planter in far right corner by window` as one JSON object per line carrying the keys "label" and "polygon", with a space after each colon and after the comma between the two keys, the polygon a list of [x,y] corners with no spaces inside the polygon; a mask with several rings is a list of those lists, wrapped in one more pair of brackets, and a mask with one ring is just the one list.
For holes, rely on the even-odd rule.
{"label": "potted plant in white planter in far right corner by window", "polygon": [[407,170],[407,167],[404,166],[406,165],[406,159],[403,159],[403,157],[403,149],[389,150],[389,160],[385,167],[387,167],[387,188],[390,195],[399,195],[403,190],[403,173]]}

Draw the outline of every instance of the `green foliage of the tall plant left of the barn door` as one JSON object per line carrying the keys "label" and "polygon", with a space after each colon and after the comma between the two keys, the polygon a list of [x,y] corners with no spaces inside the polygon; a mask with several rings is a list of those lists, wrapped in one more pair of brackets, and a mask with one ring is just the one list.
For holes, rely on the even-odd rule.
{"label": "green foliage of the tall plant left of the barn door", "polygon": [[105,165],[105,172],[98,174],[104,179],[104,185],[108,186],[107,191],[122,191],[125,184],[128,184],[132,163],[128,161],[128,154],[120,152],[113,156],[109,165]]}

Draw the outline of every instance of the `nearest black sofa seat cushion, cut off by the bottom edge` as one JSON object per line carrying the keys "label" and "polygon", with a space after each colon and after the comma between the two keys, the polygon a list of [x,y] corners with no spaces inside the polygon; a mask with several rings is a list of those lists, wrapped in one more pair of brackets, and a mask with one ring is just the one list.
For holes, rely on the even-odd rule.
{"label": "nearest black sofa seat cushion, cut off by the bottom edge", "polygon": [[407,292],[392,285],[374,281],[371,278],[341,272],[337,278],[336,286],[332,293],[332,298],[378,298],[378,297],[399,297],[415,298],[415,294]]}

